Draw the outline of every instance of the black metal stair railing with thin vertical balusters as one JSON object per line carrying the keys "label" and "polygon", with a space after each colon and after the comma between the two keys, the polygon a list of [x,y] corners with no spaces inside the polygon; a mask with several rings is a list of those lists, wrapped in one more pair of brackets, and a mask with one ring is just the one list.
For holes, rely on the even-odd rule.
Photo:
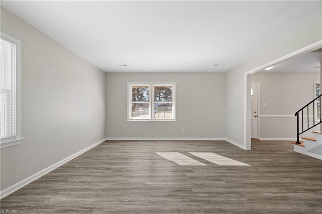
{"label": "black metal stair railing with thin vertical balusters", "polygon": [[[321,95],[319,95],[318,97],[314,98],[311,102],[309,102],[307,105],[305,105],[303,108],[301,108],[300,110],[298,110],[295,113],[296,116],[296,124],[297,124],[297,140],[296,140],[296,144],[301,144],[299,141],[300,138],[300,134],[302,134],[303,132],[306,132],[307,130],[313,128],[314,126],[317,126],[318,124],[320,124],[321,121]],[[316,105],[316,106],[315,106]],[[316,109],[316,113],[315,113],[315,109]],[[310,110],[313,112],[313,121],[310,124],[309,123],[309,112]],[[303,111],[306,111],[303,113]],[[306,113],[306,115],[305,115]],[[304,115],[307,117],[307,120],[305,121],[305,126],[306,126],[306,122],[307,122],[307,126],[304,127]],[[302,119],[302,128],[301,128],[301,132],[300,132],[300,121],[299,121],[299,116],[301,116]],[[316,117],[315,117],[316,116]]]}

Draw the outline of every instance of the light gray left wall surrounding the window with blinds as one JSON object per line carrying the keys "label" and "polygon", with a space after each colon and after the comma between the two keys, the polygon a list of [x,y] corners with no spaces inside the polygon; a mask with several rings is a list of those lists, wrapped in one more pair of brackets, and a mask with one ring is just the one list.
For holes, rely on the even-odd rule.
{"label": "light gray left wall surrounding the window with blinds", "polygon": [[105,73],[3,8],[1,31],[22,42],[26,138],[1,149],[3,190],[105,138]]}

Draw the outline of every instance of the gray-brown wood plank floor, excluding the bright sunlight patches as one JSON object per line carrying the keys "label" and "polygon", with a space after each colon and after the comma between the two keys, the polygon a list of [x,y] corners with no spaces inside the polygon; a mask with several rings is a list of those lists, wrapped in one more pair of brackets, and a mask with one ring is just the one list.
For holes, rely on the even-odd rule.
{"label": "gray-brown wood plank floor, excluding the bright sunlight patches", "polygon": [[[322,160],[286,141],[107,141],[1,200],[17,213],[322,213]],[[207,166],[180,166],[181,152]],[[250,166],[219,166],[213,152]]]}

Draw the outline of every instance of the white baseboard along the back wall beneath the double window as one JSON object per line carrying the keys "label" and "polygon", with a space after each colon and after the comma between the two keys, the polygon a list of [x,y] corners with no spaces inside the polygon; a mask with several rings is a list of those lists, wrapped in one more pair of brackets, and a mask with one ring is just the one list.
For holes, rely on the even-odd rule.
{"label": "white baseboard along the back wall beneath the double window", "polygon": [[224,137],[107,137],[106,140],[225,140]]}

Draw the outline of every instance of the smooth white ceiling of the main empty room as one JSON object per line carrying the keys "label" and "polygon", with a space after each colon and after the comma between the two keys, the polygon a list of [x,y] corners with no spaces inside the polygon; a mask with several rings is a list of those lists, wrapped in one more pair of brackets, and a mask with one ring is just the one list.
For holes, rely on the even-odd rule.
{"label": "smooth white ceiling of the main empty room", "polygon": [[320,1],[1,5],[105,72],[225,72],[321,19]]}

